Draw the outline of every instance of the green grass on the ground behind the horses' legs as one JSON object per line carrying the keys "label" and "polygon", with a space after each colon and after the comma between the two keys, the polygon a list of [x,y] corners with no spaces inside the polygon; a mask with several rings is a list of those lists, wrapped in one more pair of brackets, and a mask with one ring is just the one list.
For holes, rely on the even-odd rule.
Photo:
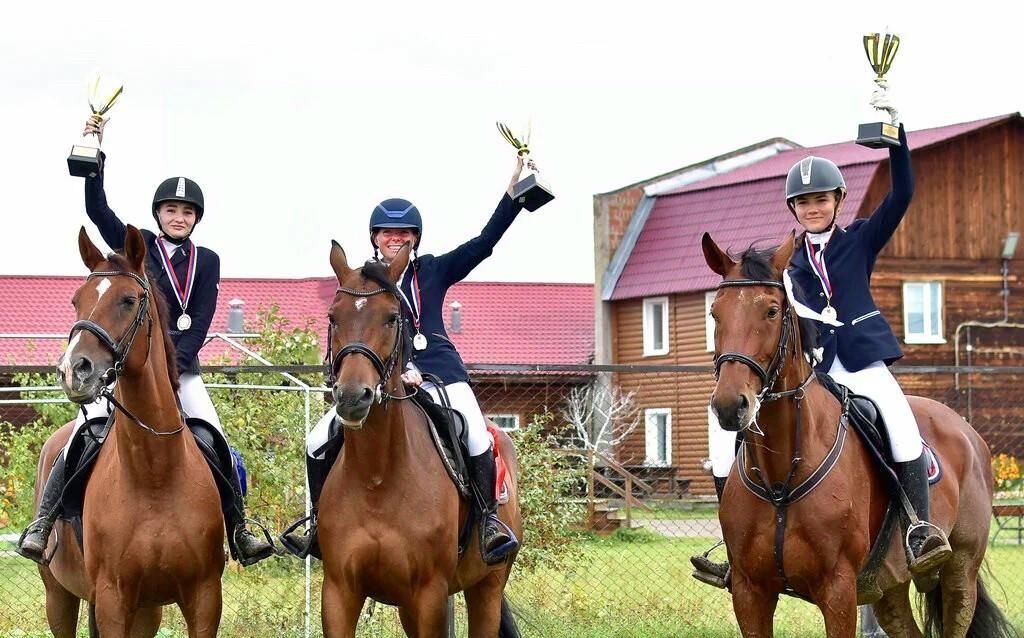
{"label": "green grass on the ground behind the horses' legs", "polygon": [[[574,569],[539,569],[515,573],[509,598],[520,613],[525,636],[546,638],[668,638],[736,636],[731,603],[725,592],[698,584],[689,576],[690,554],[710,539],[668,540],[630,530],[584,543],[584,560]],[[221,636],[302,635],[303,582],[297,561],[272,559],[256,568],[228,569],[224,577]],[[1017,627],[1024,629],[1024,547],[1002,545],[989,550],[997,581],[989,590]],[[319,577],[312,583],[312,635],[319,636]],[[0,636],[48,636],[43,614],[42,584],[35,566],[20,558],[0,558]],[[460,607],[459,627],[465,624]],[[785,598],[775,614],[776,636],[822,635],[815,607]],[[84,630],[81,633],[85,636]],[[365,618],[360,636],[401,636],[394,610],[378,606]],[[183,637],[176,609],[166,614],[161,638]]]}

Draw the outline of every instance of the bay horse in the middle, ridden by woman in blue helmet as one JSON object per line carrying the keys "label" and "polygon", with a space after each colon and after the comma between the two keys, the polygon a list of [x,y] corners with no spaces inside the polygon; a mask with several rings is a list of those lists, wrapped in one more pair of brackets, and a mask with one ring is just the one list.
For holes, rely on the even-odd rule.
{"label": "bay horse in the middle, ridden by woman in blue helmet", "polygon": [[[504,596],[515,556],[486,565],[479,535],[471,534],[460,557],[471,508],[449,477],[422,410],[402,400],[410,396],[400,378],[407,333],[396,283],[411,251],[407,243],[390,264],[353,269],[340,245],[331,248],[339,288],[329,311],[337,354],[329,360],[345,433],[319,499],[324,635],[354,636],[372,598],[398,607],[407,635],[443,638],[447,596],[462,591],[471,638],[517,638]],[[499,516],[521,539],[515,450],[504,432],[495,443],[509,470]]]}

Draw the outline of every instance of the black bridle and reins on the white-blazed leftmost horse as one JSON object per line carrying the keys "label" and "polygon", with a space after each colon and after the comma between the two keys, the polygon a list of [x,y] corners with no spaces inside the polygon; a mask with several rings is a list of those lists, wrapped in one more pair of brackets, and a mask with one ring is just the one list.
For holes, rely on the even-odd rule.
{"label": "black bridle and reins on the white-blazed leftmost horse", "polygon": [[156,436],[171,436],[173,434],[177,434],[184,429],[184,420],[182,420],[181,425],[174,430],[165,432],[152,428],[125,408],[124,405],[122,405],[121,401],[114,396],[114,391],[111,389],[114,383],[124,372],[128,353],[131,351],[132,345],[135,343],[135,337],[138,336],[139,328],[142,327],[143,322],[146,324],[146,358],[148,358],[150,352],[152,351],[153,315],[150,313],[150,295],[152,294],[150,282],[147,282],[145,278],[139,277],[134,272],[129,272],[128,270],[101,270],[97,272],[90,272],[85,281],[89,282],[97,277],[130,277],[135,280],[135,283],[142,287],[142,294],[139,295],[138,310],[135,312],[135,318],[132,320],[131,326],[128,327],[125,334],[122,335],[117,341],[115,341],[114,337],[111,336],[111,333],[99,324],[91,320],[79,320],[71,327],[71,332],[68,334],[69,341],[75,336],[76,333],[85,331],[96,337],[96,339],[98,339],[99,342],[111,351],[111,354],[113,354],[114,365],[105,370],[99,377],[99,383],[102,386],[102,389],[99,391],[99,396],[109,400],[111,405],[123,412],[125,416],[132,420],[132,422],[151,434]]}

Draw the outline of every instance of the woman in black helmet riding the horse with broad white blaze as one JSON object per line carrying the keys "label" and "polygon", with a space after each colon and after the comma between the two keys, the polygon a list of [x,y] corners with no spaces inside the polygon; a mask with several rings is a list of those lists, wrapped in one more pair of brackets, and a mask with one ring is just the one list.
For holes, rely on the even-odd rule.
{"label": "woman in black helmet riding the horse with broad white blaze", "polygon": [[[92,133],[102,138],[105,121],[97,124],[89,119],[83,134]],[[101,158],[105,161],[105,156]],[[96,177],[85,180],[85,209],[89,219],[99,228],[106,244],[115,249],[124,248],[127,229],[106,204],[103,192],[102,165]],[[146,270],[151,281],[157,282],[165,298],[172,302],[170,316],[165,317],[171,340],[174,342],[180,387],[178,399],[182,412],[188,417],[201,419],[209,424],[204,428],[214,449],[227,450],[223,428],[203,379],[199,376],[199,350],[206,341],[207,332],[217,308],[217,292],[220,286],[220,257],[209,248],[196,246],[190,240],[196,224],[203,219],[203,192],[187,177],[165,179],[153,197],[153,218],[160,235],[142,230],[145,238],[148,263]],[[177,303],[174,303],[174,302]],[[50,472],[39,503],[38,518],[34,521],[17,546],[17,553],[36,562],[45,561],[45,550],[50,530],[60,514],[60,498],[65,488],[65,458],[75,435],[86,420],[102,419],[111,414],[111,406],[105,398],[83,406],[76,420],[75,429],[57,457]],[[214,434],[215,432],[215,434]],[[203,445],[200,446],[207,452]],[[213,464],[217,462],[212,461]],[[223,465],[223,464],[221,464]],[[234,468],[224,471],[231,482],[233,503],[224,504],[224,518],[228,534],[238,550],[238,560],[252,564],[273,553],[273,546],[253,535],[246,527],[242,488]]]}

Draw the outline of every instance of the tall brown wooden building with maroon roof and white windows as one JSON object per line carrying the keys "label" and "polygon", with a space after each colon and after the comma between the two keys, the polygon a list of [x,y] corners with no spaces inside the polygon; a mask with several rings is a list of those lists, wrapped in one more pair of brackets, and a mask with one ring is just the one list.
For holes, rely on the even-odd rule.
{"label": "tall brown wooden building with maroon roof and white windows", "polygon": [[[915,194],[879,259],[872,291],[903,344],[900,366],[1024,366],[1024,284],[1014,232],[1024,232],[1024,120],[1011,114],[911,131]],[[783,200],[787,169],[808,155],[835,161],[849,195],[841,225],[865,217],[889,190],[888,156],[852,142],[813,148],[784,139],[715,158],[595,197],[596,360],[711,365],[708,305],[718,278],[700,236],[732,249],[776,244],[797,227]],[[632,211],[627,212],[632,206]],[[1008,238],[1011,238],[1008,242]],[[995,324],[995,326],[991,326]],[[900,373],[908,393],[942,400],[996,452],[1024,454],[1020,376]],[[709,372],[630,373],[643,431],[615,451],[623,462],[675,468],[708,494]]]}

